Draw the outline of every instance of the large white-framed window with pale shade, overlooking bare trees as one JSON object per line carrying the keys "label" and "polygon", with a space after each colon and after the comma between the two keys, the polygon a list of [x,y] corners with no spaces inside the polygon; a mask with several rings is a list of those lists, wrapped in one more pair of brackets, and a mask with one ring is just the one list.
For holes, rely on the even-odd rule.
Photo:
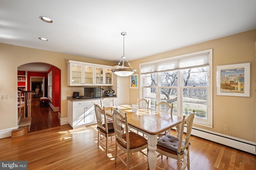
{"label": "large white-framed window with pale shade, overlooking bare trees", "polygon": [[173,103],[172,114],[195,110],[194,123],[212,127],[212,49],[142,63],[140,71],[141,98],[150,100],[150,109]]}

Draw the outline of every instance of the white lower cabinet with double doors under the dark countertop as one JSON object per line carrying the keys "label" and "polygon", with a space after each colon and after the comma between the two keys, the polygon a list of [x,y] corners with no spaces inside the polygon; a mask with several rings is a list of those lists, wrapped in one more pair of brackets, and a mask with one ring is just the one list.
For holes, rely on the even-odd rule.
{"label": "white lower cabinet with double doors under the dark countertop", "polygon": [[70,101],[68,100],[68,123],[72,128],[96,123],[94,103],[99,100]]}

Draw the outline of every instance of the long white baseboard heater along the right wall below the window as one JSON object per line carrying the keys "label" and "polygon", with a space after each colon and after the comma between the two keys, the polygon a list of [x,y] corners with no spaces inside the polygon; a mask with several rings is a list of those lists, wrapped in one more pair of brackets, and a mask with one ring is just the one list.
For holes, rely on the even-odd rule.
{"label": "long white baseboard heater along the right wall below the window", "polygon": [[[185,130],[186,129],[184,129],[184,131]],[[231,137],[221,133],[215,133],[212,131],[205,131],[203,129],[196,129],[196,128],[192,129],[191,135],[256,155],[256,145],[251,141],[246,141],[243,139]]]}

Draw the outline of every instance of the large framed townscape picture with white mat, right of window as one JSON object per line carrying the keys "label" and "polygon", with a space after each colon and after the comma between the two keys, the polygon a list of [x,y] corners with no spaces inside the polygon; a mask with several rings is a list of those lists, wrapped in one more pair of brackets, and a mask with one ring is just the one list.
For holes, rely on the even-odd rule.
{"label": "large framed townscape picture with white mat, right of window", "polygon": [[217,95],[250,97],[250,63],[217,66],[216,83]]}

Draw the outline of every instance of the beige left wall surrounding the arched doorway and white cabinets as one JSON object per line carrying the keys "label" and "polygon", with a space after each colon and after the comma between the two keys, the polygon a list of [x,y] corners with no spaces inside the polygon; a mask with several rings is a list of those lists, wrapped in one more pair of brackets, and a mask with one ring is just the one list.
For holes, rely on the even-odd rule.
{"label": "beige left wall surrounding the arched doorway and white cabinets", "polygon": [[[116,63],[0,43],[0,131],[17,126],[17,68],[26,63],[48,63],[61,70],[61,117],[68,117],[67,96],[81,87],[67,86],[67,61],[115,65]],[[9,100],[2,100],[9,95]]]}

